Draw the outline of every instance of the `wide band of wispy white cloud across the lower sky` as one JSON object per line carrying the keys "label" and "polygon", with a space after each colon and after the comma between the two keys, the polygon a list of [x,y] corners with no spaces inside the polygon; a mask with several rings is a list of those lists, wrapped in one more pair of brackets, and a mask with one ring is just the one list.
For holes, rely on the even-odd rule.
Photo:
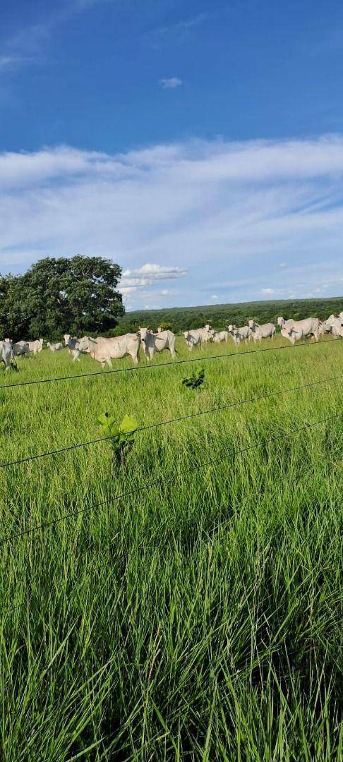
{"label": "wide band of wispy white cloud across the lower sky", "polygon": [[0,154],[0,271],[107,256],[135,306],[337,294],[342,237],[343,136]]}

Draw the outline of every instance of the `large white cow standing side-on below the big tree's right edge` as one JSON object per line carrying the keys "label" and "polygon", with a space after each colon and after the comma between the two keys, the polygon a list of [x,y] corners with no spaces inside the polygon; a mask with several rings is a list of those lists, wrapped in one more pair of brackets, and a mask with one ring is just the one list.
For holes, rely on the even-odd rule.
{"label": "large white cow standing side-on below the big tree's right edge", "polygon": [[138,363],[139,344],[140,336],[138,334],[125,334],[115,338],[98,336],[96,339],[91,338],[91,336],[84,336],[80,338],[79,351],[90,354],[93,360],[98,360],[98,363],[101,363],[101,367],[107,363],[111,368],[111,360],[120,360],[127,354],[130,354],[134,363]]}

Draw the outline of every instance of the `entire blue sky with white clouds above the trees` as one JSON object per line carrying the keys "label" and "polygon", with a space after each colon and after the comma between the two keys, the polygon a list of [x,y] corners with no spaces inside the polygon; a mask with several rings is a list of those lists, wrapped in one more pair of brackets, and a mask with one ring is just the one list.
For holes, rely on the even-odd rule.
{"label": "entire blue sky with white clouds above the trees", "polygon": [[123,266],[128,309],[343,290],[343,5],[12,0],[0,271]]}

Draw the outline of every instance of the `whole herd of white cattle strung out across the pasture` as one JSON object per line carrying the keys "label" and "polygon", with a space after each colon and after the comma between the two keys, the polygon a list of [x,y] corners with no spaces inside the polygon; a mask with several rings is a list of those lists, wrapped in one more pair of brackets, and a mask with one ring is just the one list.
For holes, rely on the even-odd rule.
{"label": "whole herd of white cattle strung out across the pasture", "polygon": [[[323,322],[318,318],[307,318],[305,320],[285,320],[283,317],[277,318],[277,325],[280,333],[287,338],[291,344],[303,338],[313,338],[318,341],[319,337],[331,333],[336,338],[343,338],[343,312],[339,315],[330,315]],[[184,331],[184,339],[189,351],[194,347],[201,347],[208,341],[219,344],[221,341],[232,341],[240,344],[241,341],[262,341],[264,338],[274,339],[276,327],[274,323],[264,323],[259,325],[255,320],[249,320],[247,325],[237,328],[236,325],[227,325],[225,331],[213,331],[207,323],[204,328]],[[76,338],[66,334],[64,337],[64,346],[68,348],[72,361],[79,360],[82,354],[90,354],[94,360],[98,360],[101,366],[105,363],[111,367],[111,360],[119,360],[126,355],[132,357],[134,363],[139,362],[139,347],[143,344],[144,353],[148,360],[152,360],[155,352],[164,350],[170,351],[172,357],[175,357],[175,334],[172,331],[161,331],[153,333],[149,328],[139,328],[137,333],[130,333],[115,338],[91,338],[83,336]],[[46,347],[51,352],[57,352],[63,349],[62,342],[51,344],[47,342]],[[16,357],[29,357],[30,354],[38,354],[43,349],[43,339],[37,341],[11,341],[5,338],[0,341],[0,362],[4,363],[5,370],[11,366],[16,368]]]}

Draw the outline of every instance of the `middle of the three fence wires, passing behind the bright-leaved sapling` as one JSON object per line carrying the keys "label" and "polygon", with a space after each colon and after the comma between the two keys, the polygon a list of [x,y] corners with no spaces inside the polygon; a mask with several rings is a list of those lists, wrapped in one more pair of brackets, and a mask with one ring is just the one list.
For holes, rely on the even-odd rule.
{"label": "middle of the three fence wires, passing behind the bright-leaved sapling", "polygon": [[[157,421],[153,424],[147,424],[146,426],[139,426],[134,431],[127,431],[127,434],[138,434],[139,431],[149,431],[150,429],[161,428],[162,426],[167,426],[168,424],[180,423],[181,421],[189,421],[191,418],[200,418],[201,415],[208,415],[214,412],[229,410],[230,408],[242,407],[242,405],[248,405],[248,404],[252,404],[253,402],[259,402],[262,399],[277,397],[282,394],[287,394],[290,392],[297,392],[297,391],[300,391],[300,389],[309,389],[309,387],[319,386],[320,384],[323,384],[323,383],[331,383],[332,381],[338,381],[339,379],[342,379],[342,378],[343,378],[343,373],[341,373],[339,376],[332,376],[327,379],[319,379],[319,381],[311,381],[309,383],[300,384],[300,386],[290,386],[290,388],[280,389],[278,392],[268,392],[265,394],[257,395],[256,397],[241,399],[241,400],[238,400],[237,402],[229,402],[226,405],[217,405],[216,407],[207,408],[207,410],[201,410],[197,413],[181,415],[178,418],[169,418],[167,421]],[[113,437],[98,437],[98,439],[91,439],[91,440],[88,440],[87,442],[79,442],[76,444],[67,445],[66,447],[59,447],[59,449],[57,450],[49,450],[46,453],[37,453],[37,455],[30,455],[25,458],[19,458],[18,460],[8,460],[6,463],[0,463],[0,469],[9,468],[10,466],[19,466],[22,463],[30,463],[33,460],[38,460],[40,458],[46,458],[53,455],[59,455],[59,453],[70,452],[70,450],[78,450],[81,447],[88,447],[92,444],[98,444],[99,442],[111,441],[112,439]]]}

